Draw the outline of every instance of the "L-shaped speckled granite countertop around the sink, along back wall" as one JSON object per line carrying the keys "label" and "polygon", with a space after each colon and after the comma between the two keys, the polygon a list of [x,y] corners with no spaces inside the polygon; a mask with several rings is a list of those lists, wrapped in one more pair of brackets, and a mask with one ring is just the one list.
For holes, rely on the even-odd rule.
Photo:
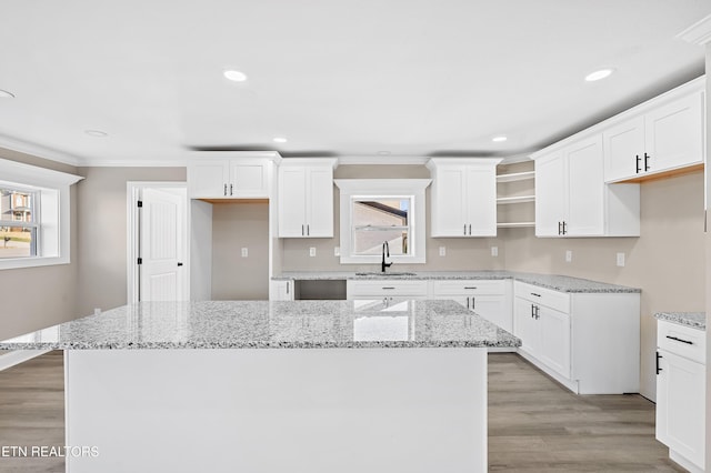
{"label": "L-shaped speckled granite countertop around the sink, along back wall", "polygon": [[604,282],[591,281],[581,278],[572,278],[559,274],[537,274],[523,273],[514,271],[402,271],[398,274],[397,270],[392,271],[392,275],[381,275],[377,271],[372,272],[347,272],[347,271],[292,271],[283,272],[276,275],[273,280],[498,280],[513,279],[515,281],[525,282],[528,284],[548,288],[561,292],[641,292],[638,288],[629,288],[619,284],[609,284]]}

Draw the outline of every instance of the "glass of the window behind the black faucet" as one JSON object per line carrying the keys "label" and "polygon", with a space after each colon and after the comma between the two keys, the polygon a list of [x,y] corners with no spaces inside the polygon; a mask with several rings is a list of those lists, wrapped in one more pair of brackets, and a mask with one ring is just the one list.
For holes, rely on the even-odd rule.
{"label": "glass of the window behind the black faucet", "polygon": [[411,198],[353,200],[353,254],[381,254],[388,242],[391,255],[409,254]]}

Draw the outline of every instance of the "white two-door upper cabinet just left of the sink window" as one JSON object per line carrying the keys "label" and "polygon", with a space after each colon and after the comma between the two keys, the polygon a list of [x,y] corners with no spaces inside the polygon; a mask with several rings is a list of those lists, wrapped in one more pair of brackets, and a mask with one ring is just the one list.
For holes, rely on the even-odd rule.
{"label": "white two-door upper cabinet just left of the sink window", "polygon": [[279,236],[333,236],[333,159],[289,159],[279,167]]}

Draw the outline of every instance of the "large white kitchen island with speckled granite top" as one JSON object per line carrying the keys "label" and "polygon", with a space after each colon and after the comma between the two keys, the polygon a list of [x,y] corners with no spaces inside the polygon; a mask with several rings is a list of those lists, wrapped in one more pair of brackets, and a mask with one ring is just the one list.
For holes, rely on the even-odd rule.
{"label": "large white kitchen island with speckled granite top", "polygon": [[487,348],[452,301],[152,302],[0,349],[64,350],[69,472],[484,472]]}

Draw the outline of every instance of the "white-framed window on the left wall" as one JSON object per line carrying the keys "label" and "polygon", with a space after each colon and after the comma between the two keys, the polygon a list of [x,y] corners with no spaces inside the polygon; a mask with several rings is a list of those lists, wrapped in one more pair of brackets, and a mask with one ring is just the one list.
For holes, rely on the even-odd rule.
{"label": "white-framed window on the left wall", "polygon": [[0,159],[0,270],[69,262],[78,175]]}

